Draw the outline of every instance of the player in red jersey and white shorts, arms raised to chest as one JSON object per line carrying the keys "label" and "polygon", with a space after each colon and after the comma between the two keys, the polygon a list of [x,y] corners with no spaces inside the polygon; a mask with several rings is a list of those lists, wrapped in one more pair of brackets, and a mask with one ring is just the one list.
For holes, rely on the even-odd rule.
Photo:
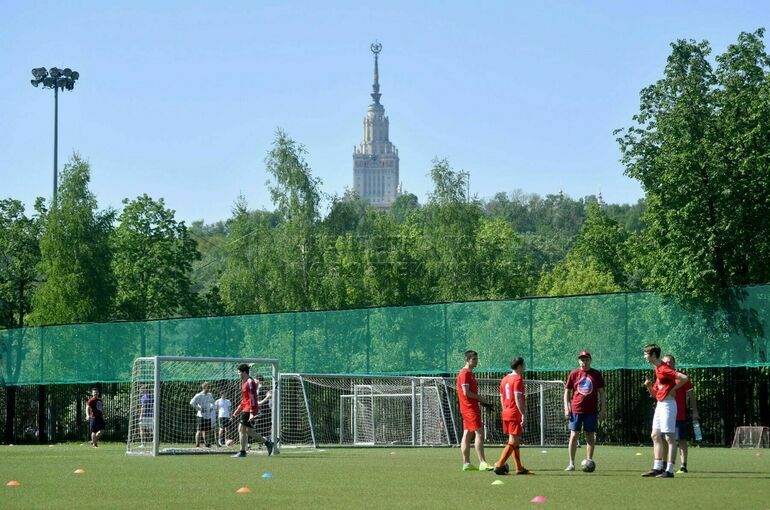
{"label": "player in red jersey and white shorts, arms raised to chest", "polygon": [[[660,359],[660,346],[649,344],[644,348],[644,359],[655,367],[655,384],[645,378],[644,385],[658,403],[655,405],[655,415],[652,418],[652,451],[655,463],[652,469],[642,476],[657,476],[658,478],[674,477],[674,461],[676,460],[676,392],[684,386],[689,378],[669,367]],[[667,463],[663,456],[666,454],[668,443]]]}

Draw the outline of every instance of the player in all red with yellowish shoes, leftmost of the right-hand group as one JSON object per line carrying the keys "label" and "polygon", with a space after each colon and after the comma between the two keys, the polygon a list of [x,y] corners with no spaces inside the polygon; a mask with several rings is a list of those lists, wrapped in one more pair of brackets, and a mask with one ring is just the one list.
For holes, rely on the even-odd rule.
{"label": "player in all red with yellowish shoes, leftmost of the right-hand group", "polygon": [[487,407],[487,403],[479,395],[479,385],[473,369],[479,364],[479,354],[476,351],[465,351],[465,367],[457,374],[457,398],[460,401],[460,414],[463,417],[463,438],[460,441],[460,453],[463,456],[463,471],[476,471],[471,464],[471,439],[476,436],[476,454],[479,456],[481,471],[491,471],[492,466],[484,458],[484,438],[481,434],[481,409],[479,404]]}

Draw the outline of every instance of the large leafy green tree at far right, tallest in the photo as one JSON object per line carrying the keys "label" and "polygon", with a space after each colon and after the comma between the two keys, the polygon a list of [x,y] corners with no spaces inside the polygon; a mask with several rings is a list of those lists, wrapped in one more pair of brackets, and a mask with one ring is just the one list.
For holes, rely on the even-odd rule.
{"label": "large leafy green tree at far right, tallest in the photo", "polygon": [[724,304],[736,285],[770,278],[770,61],[763,31],[708,61],[679,40],[664,77],[641,93],[618,139],[626,174],[647,195],[646,283],[664,295]]}

